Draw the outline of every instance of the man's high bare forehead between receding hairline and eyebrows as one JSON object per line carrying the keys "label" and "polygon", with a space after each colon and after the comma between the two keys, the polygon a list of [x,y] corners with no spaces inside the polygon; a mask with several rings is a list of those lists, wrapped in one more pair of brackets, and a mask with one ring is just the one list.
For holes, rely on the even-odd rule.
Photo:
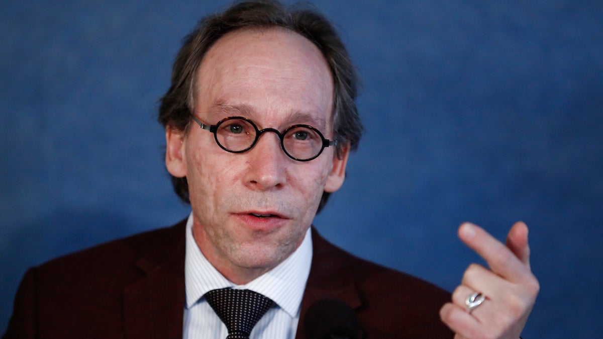
{"label": "man's high bare forehead between receding hairline and eyebrows", "polygon": [[284,28],[226,34],[207,51],[196,80],[195,113],[244,106],[250,118],[331,118],[333,80],[323,54]]}

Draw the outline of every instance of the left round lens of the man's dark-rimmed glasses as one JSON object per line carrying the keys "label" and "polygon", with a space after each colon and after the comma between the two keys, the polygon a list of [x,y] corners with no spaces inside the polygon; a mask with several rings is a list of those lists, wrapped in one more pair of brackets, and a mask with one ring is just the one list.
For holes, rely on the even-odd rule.
{"label": "left round lens of the man's dark-rimmed glasses", "polygon": [[216,127],[218,143],[232,152],[245,151],[256,140],[257,130],[251,122],[233,118],[222,121]]}

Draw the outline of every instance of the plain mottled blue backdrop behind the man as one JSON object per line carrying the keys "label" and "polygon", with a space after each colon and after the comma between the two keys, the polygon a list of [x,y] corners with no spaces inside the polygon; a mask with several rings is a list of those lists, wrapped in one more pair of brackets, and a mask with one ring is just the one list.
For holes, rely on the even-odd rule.
{"label": "plain mottled blue backdrop behind the man", "polygon": [[[0,2],[0,333],[27,267],[166,226],[187,206],[157,100],[224,1]],[[531,227],[526,338],[603,332],[603,2],[321,1],[364,87],[366,133],[316,224],[452,290],[462,221]]]}

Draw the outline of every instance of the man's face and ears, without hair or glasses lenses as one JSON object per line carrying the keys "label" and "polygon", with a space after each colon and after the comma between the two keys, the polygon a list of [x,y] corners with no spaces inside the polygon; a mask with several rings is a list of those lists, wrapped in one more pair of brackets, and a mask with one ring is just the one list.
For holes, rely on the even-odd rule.
{"label": "man's face and ears, without hair or glasses lenses", "polygon": [[[317,47],[280,28],[241,30],[213,45],[197,74],[194,114],[205,124],[244,116],[259,129],[311,125],[333,139],[333,80]],[[339,189],[342,159],[327,147],[309,162],[286,156],[275,133],[245,153],[221,149],[193,125],[166,131],[168,171],[188,180],[194,236],[203,254],[237,284],[285,260],[311,226],[323,191]]]}

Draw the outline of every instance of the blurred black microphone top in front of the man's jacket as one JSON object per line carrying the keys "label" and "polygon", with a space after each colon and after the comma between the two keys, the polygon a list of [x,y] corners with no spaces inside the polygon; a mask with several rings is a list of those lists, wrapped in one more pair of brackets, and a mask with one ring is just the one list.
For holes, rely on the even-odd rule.
{"label": "blurred black microphone top in front of the man's jacket", "polygon": [[304,321],[309,339],[359,339],[360,327],[356,314],[341,300],[323,299],[315,302]]}

